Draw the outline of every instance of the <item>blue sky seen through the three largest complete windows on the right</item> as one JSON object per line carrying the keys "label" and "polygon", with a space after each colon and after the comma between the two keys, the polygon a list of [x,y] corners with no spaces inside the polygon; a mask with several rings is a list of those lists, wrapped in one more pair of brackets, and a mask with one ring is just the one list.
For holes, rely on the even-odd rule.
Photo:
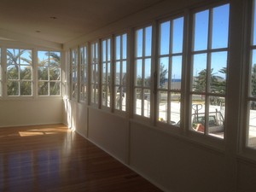
{"label": "blue sky seen through the three largest complete windows on the right", "polygon": [[[208,42],[208,28],[209,28],[209,17],[212,14],[212,45],[209,46]],[[192,50],[201,51],[206,50],[208,47],[210,49],[222,49],[228,47],[228,32],[229,32],[229,15],[230,15],[230,5],[224,4],[222,6],[195,13],[195,32],[194,32],[194,47]],[[145,29],[145,55],[150,55],[151,53],[151,37],[152,37],[152,27],[149,26]],[[171,35],[172,34],[172,37]],[[172,38],[172,41],[171,41]],[[172,46],[170,46],[172,42]],[[256,40],[255,40],[256,42]],[[162,56],[160,58],[160,63],[164,65],[165,69],[169,70],[169,53],[177,54],[172,57],[172,79],[181,79],[181,69],[182,69],[182,54],[183,48],[183,17],[177,18],[175,20],[169,20],[160,24],[160,46],[159,53]],[[172,49],[172,51],[170,51]],[[136,56],[143,55],[143,29],[137,31],[137,50]],[[219,70],[223,67],[227,67],[227,51],[217,51],[212,53],[211,58],[207,58],[207,54],[196,54],[191,58],[191,62],[194,62],[194,72],[193,75],[197,76],[201,70],[207,68],[207,60],[211,62],[211,68],[213,68],[214,75],[218,75],[223,79],[226,79],[225,74],[219,73]],[[192,62],[193,61],[193,62]],[[145,61],[146,66],[148,66],[149,60]],[[145,77],[150,76],[149,67],[145,69]],[[138,61],[137,66],[137,76],[142,77],[142,63]],[[167,78],[167,77],[166,77]]]}

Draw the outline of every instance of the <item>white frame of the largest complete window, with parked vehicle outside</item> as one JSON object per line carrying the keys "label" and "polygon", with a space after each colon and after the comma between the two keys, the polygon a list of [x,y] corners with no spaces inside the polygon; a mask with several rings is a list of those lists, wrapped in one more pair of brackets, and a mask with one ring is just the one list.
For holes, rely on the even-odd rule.
{"label": "white frame of the largest complete window, with parked vehicle outside", "polygon": [[[190,86],[189,86],[189,117],[188,117],[188,122],[189,122],[189,125],[188,125],[188,129],[189,129],[189,135],[193,136],[193,138],[195,139],[202,139],[202,141],[211,141],[213,143],[222,143],[224,142],[225,140],[225,127],[224,127],[224,137],[221,138],[221,137],[218,137],[218,136],[213,136],[209,133],[209,119],[208,119],[208,115],[206,115],[207,113],[209,113],[209,105],[210,105],[210,102],[209,102],[209,98],[210,96],[219,96],[219,97],[224,97],[225,99],[225,103],[227,103],[227,95],[226,95],[226,92],[227,92],[227,89],[225,91],[224,94],[221,94],[221,93],[212,93],[211,90],[210,90],[210,78],[211,76],[209,74],[211,74],[211,67],[210,67],[210,64],[211,64],[211,55],[212,53],[220,53],[220,52],[226,52],[227,53],[227,65],[226,65],[226,69],[227,69],[227,73],[226,73],[226,76],[228,76],[228,67],[229,67],[229,51],[230,51],[230,48],[229,48],[229,44],[230,44],[230,39],[228,38],[228,44],[227,44],[227,47],[224,47],[224,48],[211,48],[211,45],[212,45],[212,10],[214,8],[218,8],[219,6],[223,6],[225,4],[230,4],[230,3],[219,3],[219,4],[215,4],[215,5],[212,5],[210,7],[207,7],[207,8],[203,8],[203,9],[196,9],[194,12],[192,12],[192,14],[190,15],[191,18],[193,18],[193,20],[189,20],[189,25],[192,29],[192,31],[190,31],[190,36],[189,36],[189,40],[191,40],[190,42],[190,51],[189,51],[189,54],[190,54],[190,59],[188,57],[188,61],[190,60],[190,63],[191,63],[191,67],[189,67],[189,76],[190,76]],[[205,11],[205,10],[209,10],[209,23],[208,23],[208,29],[207,29],[207,49],[200,49],[200,50],[194,50],[194,34],[195,34],[195,14],[196,13],[200,13],[202,11]],[[230,13],[230,9],[229,9],[229,13]],[[192,23],[191,23],[192,21]],[[191,25],[192,24],[192,25]],[[229,17],[229,26],[230,26],[230,17]],[[229,27],[230,28],[230,27]],[[230,32],[228,32],[228,37],[230,36]],[[207,83],[206,83],[206,91],[205,92],[197,92],[197,91],[194,91],[193,90],[193,85],[192,85],[192,82],[193,82],[193,66],[194,66],[194,61],[193,61],[193,58],[194,58],[194,55],[200,55],[200,54],[206,54],[207,55]],[[227,77],[226,77],[227,79]],[[187,82],[188,83],[188,82]],[[225,87],[227,87],[227,81],[226,81],[226,85]],[[194,110],[192,108],[192,96],[193,95],[197,95],[197,96],[202,96],[204,95],[206,98],[205,98],[205,130],[203,133],[199,133],[197,131],[193,131],[191,125],[192,125],[192,119],[191,119],[191,115],[192,115],[192,111]],[[226,106],[224,107],[224,117],[227,117],[226,115]],[[224,122],[226,121],[226,119],[224,119]],[[205,140],[207,139],[207,140]]]}

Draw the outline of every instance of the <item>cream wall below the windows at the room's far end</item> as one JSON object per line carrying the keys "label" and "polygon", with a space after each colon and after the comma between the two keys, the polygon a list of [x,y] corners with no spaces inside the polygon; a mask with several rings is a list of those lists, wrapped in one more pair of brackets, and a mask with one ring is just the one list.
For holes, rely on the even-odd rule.
{"label": "cream wall below the windows at the room's far end", "polygon": [[0,100],[0,127],[62,123],[63,100]]}

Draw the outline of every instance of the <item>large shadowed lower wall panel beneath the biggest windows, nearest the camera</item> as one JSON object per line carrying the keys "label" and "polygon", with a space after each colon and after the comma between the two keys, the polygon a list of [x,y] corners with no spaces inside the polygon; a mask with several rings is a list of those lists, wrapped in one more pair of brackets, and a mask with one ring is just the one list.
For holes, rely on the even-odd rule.
{"label": "large shadowed lower wall panel beneath the biggest windows, nearest the camera", "polygon": [[166,191],[223,192],[224,154],[131,123],[131,167]]}

